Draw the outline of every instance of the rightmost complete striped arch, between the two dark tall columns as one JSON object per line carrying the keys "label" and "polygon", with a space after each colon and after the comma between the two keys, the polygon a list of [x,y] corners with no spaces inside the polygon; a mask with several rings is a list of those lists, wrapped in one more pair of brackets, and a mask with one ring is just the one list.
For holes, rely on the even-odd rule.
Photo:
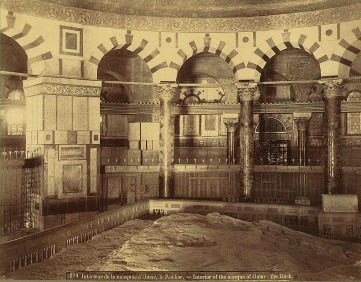
{"label": "rightmost complete striped arch, between the two dark tall columns", "polygon": [[268,38],[265,44],[253,52],[247,68],[254,71],[254,79],[259,81],[267,62],[278,52],[290,47],[303,49],[313,55],[320,64],[321,76],[326,75],[326,62],[329,61],[329,58],[320,44],[304,34],[284,32]]}

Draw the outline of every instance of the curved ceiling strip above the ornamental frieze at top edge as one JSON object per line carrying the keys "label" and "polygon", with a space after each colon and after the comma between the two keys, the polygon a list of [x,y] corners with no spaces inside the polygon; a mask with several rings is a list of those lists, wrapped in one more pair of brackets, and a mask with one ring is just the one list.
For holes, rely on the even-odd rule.
{"label": "curved ceiling strip above the ornamental frieze at top edge", "polygon": [[337,8],[361,0],[41,0],[109,13],[176,18],[277,15]]}

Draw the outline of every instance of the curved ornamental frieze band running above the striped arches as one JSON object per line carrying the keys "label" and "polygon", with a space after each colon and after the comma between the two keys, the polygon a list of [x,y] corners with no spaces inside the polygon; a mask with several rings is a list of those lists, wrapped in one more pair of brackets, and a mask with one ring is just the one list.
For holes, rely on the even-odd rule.
{"label": "curved ornamental frieze band running above the striped arches", "polygon": [[317,26],[361,19],[361,4],[317,11],[242,18],[166,18],[98,12],[36,0],[3,0],[5,9],[59,21],[173,32],[235,32]]}

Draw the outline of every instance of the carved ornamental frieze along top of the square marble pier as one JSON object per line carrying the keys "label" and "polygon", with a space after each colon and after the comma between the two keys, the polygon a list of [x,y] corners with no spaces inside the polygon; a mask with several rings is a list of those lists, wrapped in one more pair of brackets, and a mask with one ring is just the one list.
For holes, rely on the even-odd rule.
{"label": "carved ornamental frieze along top of the square marble pier", "polygon": [[25,95],[27,97],[39,95],[39,94],[99,97],[100,92],[101,92],[100,87],[76,86],[76,85],[53,84],[53,83],[42,83],[25,88]]}

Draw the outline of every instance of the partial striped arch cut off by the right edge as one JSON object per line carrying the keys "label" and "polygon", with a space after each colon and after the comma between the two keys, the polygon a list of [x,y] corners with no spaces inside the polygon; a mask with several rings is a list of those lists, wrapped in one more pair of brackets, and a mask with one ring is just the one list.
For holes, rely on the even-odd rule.
{"label": "partial striped arch cut off by the right edge", "polygon": [[356,27],[339,41],[331,56],[331,60],[338,63],[338,77],[347,78],[350,76],[352,63],[360,51],[361,29]]}

